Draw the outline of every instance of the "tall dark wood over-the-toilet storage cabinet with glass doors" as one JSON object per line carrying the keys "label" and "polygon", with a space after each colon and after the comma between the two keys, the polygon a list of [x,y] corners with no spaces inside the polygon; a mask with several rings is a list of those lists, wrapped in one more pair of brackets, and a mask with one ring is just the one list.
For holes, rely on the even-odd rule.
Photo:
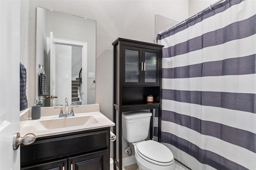
{"label": "tall dark wood over-the-toilet storage cabinet with glass doors", "polygon": [[[158,109],[161,127],[162,47],[152,43],[118,38],[112,43],[114,52],[114,163],[122,169],[122,113]],[[148,95],[154,102],[146,102]],[[150,138],[153,131],[151,118]],[[158,141],[161,139],[158,128]],[[116,166],[114,169],[116,170]]]}

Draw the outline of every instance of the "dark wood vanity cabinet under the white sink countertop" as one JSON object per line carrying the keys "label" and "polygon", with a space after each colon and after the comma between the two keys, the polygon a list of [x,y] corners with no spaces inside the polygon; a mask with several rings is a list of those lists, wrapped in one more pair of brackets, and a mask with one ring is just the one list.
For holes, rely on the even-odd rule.
{"label": "dark wood vanity cabinet under the white sink countertop", "polygon": [[109,170],[110,127],[40,137],[21,145],[21,170]]}

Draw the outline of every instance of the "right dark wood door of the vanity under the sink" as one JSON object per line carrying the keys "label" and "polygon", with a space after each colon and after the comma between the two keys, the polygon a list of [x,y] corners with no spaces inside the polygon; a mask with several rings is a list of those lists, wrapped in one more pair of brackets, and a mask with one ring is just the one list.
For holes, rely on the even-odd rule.
{"label": "right dark wood door of the vanity under the sink", "polygon": [[68,158],[70,170],[109,170],[108,150]]}

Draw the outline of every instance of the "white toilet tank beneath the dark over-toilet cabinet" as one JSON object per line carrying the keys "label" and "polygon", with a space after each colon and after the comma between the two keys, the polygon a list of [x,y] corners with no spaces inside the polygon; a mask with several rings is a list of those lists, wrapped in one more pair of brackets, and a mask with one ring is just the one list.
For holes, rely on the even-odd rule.
{"label": "white toilet tank beneath the dark over-toilet cabinet", "polygon": [[151,112],[144,110],[122,113],[124,139],[129,143],[146,139],[148,137],[151,116]]}

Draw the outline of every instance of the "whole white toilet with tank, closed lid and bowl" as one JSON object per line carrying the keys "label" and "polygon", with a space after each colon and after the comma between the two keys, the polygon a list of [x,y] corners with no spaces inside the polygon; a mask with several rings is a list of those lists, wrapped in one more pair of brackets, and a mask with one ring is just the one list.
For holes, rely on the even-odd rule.
{"label": "whole white toilet with tank, closed lid and bowl", "polygon": [[124,139],[134,145],[139,170],[175,170],[174,156],[162,143],[145,139],[148,137],[151,112],[129,111],[122,114]]}

